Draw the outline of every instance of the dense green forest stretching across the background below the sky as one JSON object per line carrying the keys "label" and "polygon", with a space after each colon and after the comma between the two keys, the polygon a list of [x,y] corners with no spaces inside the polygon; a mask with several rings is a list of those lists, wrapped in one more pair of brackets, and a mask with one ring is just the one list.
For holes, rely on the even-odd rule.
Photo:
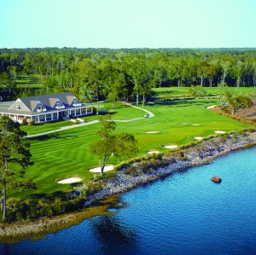
{"label": "dense green forest stretching across the background below the sky", "polygon": [[153,87],[256,85],[256,49],[0,49],[0,101],[71,91],[144,101]]}

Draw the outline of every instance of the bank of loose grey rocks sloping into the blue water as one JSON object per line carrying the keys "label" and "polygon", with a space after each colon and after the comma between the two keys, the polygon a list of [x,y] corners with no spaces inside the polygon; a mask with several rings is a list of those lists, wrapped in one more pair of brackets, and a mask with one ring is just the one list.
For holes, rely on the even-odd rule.
{"label": "bank of loose grey rocks sloping into the blue water", "polygon": [[[205,165],[211,162],[213,159],[216,159],[224,154],[228,154],[231,151],[245,148],[248,145],[256,145],[256,132],[246,133],[245,136],[238,136],[236,139],[233,137],[234,134],[224,138],[223,142],[221,137],[227,136],[226,134],[222,136],[217,136],[212,138],[212,141],[206,140],[201,142],[195,148],[186,149],[187,159],[177,159],[177,157],[172,155],[171,157],[165,156],[161,160],[166,161],[166,166],[158,167],[154,171],[141,172],[137,177],[127,175],[125,171],[127,166],[119,170],[115,177],[110,180],[103,180],[104,188],[97,192],[96,194],[91,195],[84,206],[91,206],[98,200],[102,200],[104,197],[113,195],[113,194],[122,194],[132,188],[136,188],[139,185],[144,183],[152,182],[161,177],[167,177],[176,171],[185,171],[189,168]],[[201,148],[201,149],[198,149]],[[136,168],[140,168],[140,162],[132,164]],[[148,165],[150,167],[150,165]]]}

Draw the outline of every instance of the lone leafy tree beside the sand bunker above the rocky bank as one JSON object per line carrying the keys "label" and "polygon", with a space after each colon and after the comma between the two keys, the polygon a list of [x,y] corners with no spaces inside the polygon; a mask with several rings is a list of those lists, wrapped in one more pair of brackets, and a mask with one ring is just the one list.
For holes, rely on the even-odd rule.
{"label": "lone leafy tree beside the sand bunker above the rocky bank", "polygon": [[99,158],[101,175],[103,175],[104,167],[111,155],[119,158],[126,158],[137,153],[137,140],[131,134],[121,133],[113,135],[115,123],[110,119],[110,115],[106,115],[100,119],[102,129],[97,131],[101,139],[90,144],[90,153],[95,154]]}

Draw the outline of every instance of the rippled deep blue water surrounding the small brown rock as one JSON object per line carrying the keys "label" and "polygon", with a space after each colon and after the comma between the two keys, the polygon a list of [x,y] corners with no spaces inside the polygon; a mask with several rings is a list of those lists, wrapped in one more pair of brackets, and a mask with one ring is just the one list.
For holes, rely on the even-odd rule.
{"label": "rippled deep blue water surrounding the small brown rock", "polygon": [[0,254],[256,254],[255,170],[256,148],[236,151],[123,194],[111,216]]}

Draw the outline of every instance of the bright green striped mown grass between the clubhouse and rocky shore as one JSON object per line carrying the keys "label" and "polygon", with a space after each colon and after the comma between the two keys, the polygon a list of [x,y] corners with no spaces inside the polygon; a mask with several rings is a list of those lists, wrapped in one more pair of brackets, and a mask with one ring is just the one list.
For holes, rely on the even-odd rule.
{"label": "bright green striped mown grass between the clubhouse and rocky shore", "polygon": [[[218,100],[155,101],[154,104],[145,106],[145,109],[154,113],[154,118],[118,122],[115,132],[133,134],[137,139],[137,156],[141,156],[150,150],[167,152],[169,148],[164,148],[163,145],[179,146],[195,141],[195,137],[214,135],[216,130],[230,131],[254,127],[212,113],[206,108],[214,104],[218,104]],[[132,107],[119,107],[115,111],[113,119],[127,119],[129,118],[127,113],[131,113],[131,117],[143,116],[143,111]],[[70,190],[77,183],[59,184],[58,181],[70,177],[81,178],[83,183],[89,181],[96,173],[88,170],[98,166],[98,159],[88,152],[88,146],[98,139],[96,130],[100,126],[100,124],[84,125],[71,130],[27,138],[26,140],[31,142],[32,160],[35,164],[27,169],[26,178],[31,178],[36,183],[37,190],[26,191],[26,194],[18,192],[13,194],[18,196],[34,194],[37,197],[61,195],[61,192]],[[108,161],[108,164],[118,163],[119,159],[114,157]]]}

